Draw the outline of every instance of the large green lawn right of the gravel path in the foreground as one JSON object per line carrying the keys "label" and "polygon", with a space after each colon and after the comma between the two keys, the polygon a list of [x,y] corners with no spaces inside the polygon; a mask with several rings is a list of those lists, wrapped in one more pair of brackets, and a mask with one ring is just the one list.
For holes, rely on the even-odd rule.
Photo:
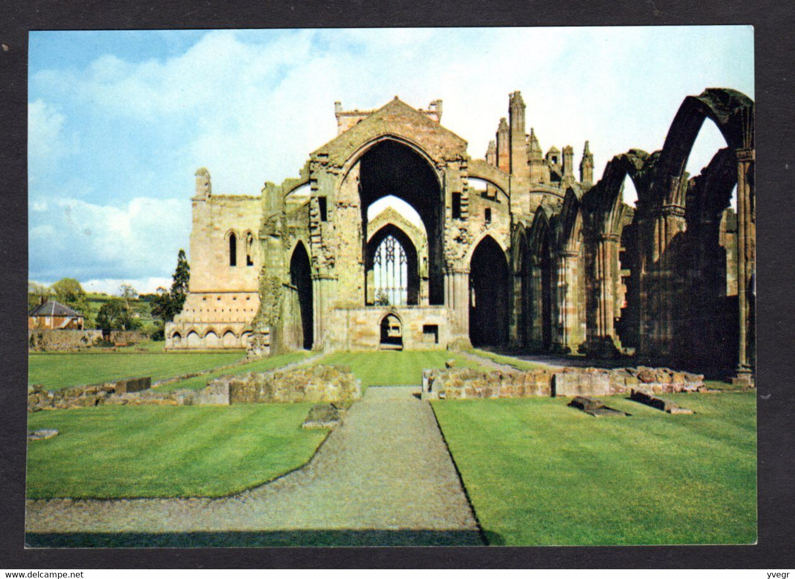
{"label": "large green lawn right of the gravel path in the foreground", "polygon": [[632,416],[554,398],[433,408],[491,544],[754,542],[754,393],[665,397],[697,414],[619,396],[604,400]]}

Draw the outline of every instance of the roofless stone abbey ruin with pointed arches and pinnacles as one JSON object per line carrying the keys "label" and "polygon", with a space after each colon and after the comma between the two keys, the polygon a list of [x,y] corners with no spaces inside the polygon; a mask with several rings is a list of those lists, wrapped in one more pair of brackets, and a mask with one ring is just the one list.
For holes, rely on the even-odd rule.
{"label": "roofless stone abbey ruin with pointed arches and pinnacles", "polygon": [[[485,159],[440,124],[441,101],[343,110],[301,176],[213,195],[196,172],[190,293],[169,349],[444,349],[634,354],[750,378],[754,102],[684,98],[659,151],[614,156],[593,182],[585,141],[544,153],[510,95]],[[638,114],[641,114],[638,111]],[[710,119],[727,143],[685,166]],[[625,179],[638,193],[623,202]],[[737,210],[731,209],[736,186]],[[401,199],[416,212],[374,203]],[[378,207],[378,205],[376,206]]]}

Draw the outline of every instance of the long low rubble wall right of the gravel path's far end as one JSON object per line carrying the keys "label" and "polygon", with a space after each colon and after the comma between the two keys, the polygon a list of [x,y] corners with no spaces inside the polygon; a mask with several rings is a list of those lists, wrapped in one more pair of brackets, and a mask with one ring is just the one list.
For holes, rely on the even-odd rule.
{"label": "long low rubble wall right of the gravel path's far end", "polygon": [[667,368],[564,368],[482,372],[469,368],[425,370],[424,398],[525,398],[528,396],[611,396],[632,388],[661,392],[700,392],[704,376]]}

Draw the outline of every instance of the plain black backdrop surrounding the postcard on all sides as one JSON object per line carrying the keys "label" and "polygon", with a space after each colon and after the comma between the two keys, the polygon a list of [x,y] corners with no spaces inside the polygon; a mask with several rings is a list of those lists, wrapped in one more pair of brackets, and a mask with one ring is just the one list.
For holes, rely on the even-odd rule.
{"label": "plain black backdrop surrounding the postcard on all sides", "polygon": [[[795,310],[789,291],[795,271],[790,226],[795,197],[790,177],[795,172],[790,113],[795,96],[793,6],[792,2],[750,0],[0,2],[0,43],[9,47],[0,50],[0,569],[795,567],[795,384],[789,372]],[[757,545],[25,550],[29,30],[695,24],[754,25],[758,105]],[[521,66],[522,56],[516,58]]]}

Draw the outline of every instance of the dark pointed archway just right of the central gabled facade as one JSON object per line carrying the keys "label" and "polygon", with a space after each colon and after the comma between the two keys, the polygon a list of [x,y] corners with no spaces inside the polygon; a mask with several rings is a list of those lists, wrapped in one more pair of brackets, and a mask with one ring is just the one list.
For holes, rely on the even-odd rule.
{"label": "dark pointed archway just right of the central gabled facade", "polygon": [[469,339],[472,345],[503,345],[508,338],[508,262],[491,236],[483,237],[469,262]]}

